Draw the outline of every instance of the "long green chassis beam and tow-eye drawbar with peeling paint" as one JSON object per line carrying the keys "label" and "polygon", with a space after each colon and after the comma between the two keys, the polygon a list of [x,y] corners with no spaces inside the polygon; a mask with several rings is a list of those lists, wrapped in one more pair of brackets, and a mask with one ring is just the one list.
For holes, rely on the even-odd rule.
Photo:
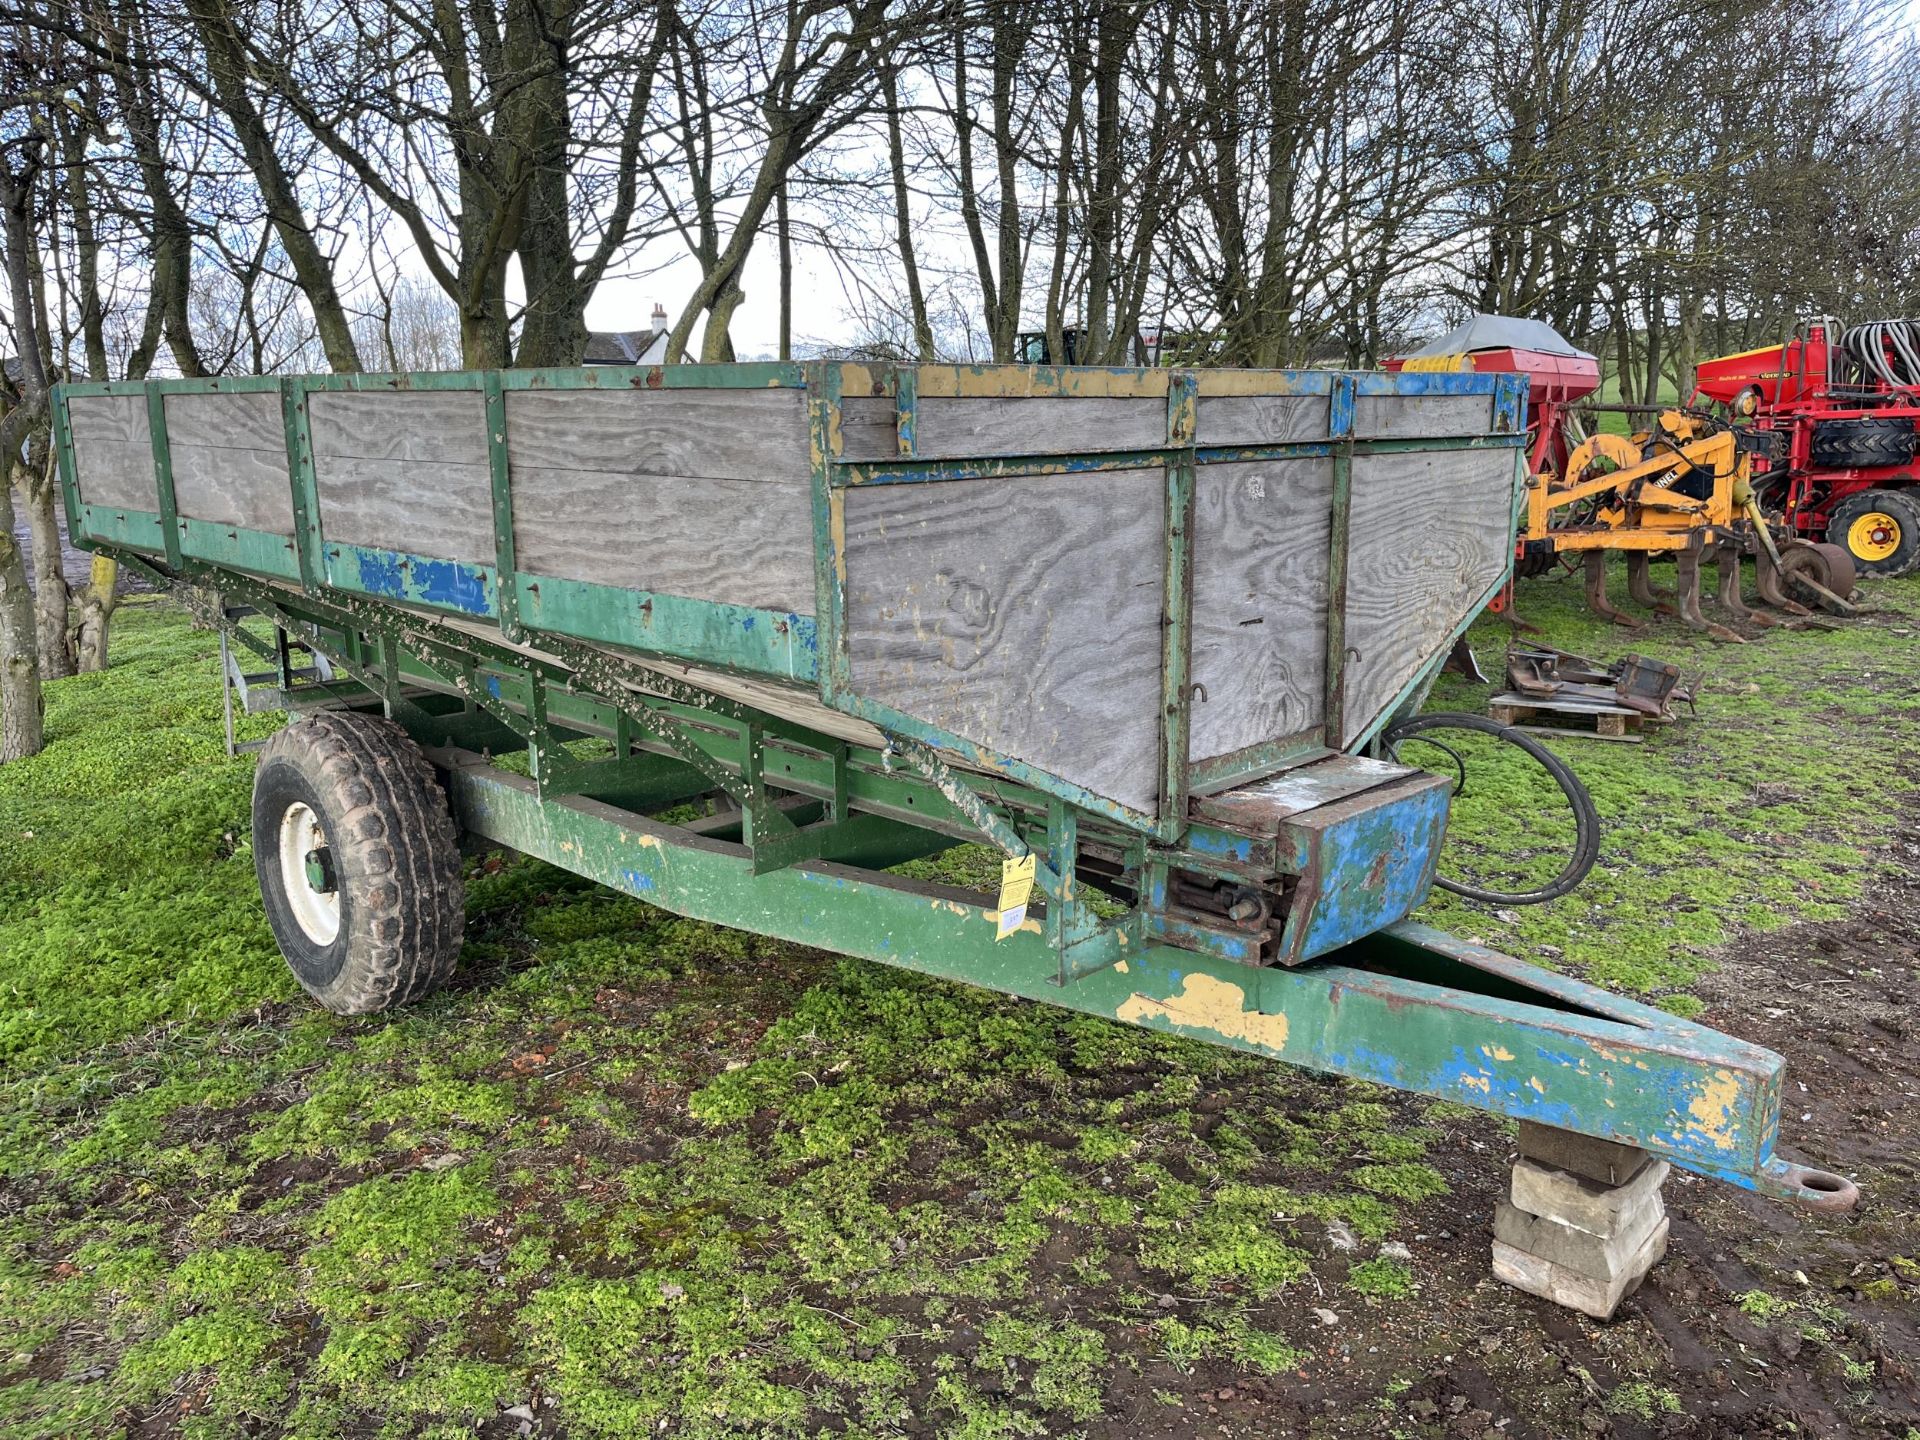
{"label": "long green chassis beam and tow-eye drawbar with peeling paint", "polygon": [[1060,985],[1044,916],[1004,941],[989,897],[841,864],[753,874],[741,845],[430,749],[455,820],[674,914],[1634,1144],[1820,1210],[1857,1190],[1774,1156],[1784,1062],[1757,1044],[1400,924],[1296,970],[1116,935]]}

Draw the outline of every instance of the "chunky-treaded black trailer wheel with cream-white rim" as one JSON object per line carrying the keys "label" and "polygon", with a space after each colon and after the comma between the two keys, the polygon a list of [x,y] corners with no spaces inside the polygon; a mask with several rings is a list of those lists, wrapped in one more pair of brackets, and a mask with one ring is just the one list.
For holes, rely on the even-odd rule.
{"label": "chunky-treaded black trailer wheel with cream-white rim", "polygon": [[267,741],[253,872],[280,954],[328,1010],[386,1010],[453,973],[459,835],[434,768],[392,720],[317,710]]}

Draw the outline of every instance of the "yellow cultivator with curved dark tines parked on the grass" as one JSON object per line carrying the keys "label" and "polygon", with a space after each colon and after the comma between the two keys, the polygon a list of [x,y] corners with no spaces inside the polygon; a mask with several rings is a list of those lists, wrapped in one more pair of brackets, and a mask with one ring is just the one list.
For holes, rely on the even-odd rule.
{"label": "yellow cultivator with curved dark tines parked on the grass", "polygon": [[[1716,603],[1736,618],[1778,624],[1782,614],[1809,614],[1809,603],[1851,614],[1853,561],[1837,545],[1774,536],[1749,486],[1751,444],[1759,444],[1751,432],[1678,409],[1663,411],[1642,434],[1580,442],[1561,476],[1542,470],[1532,478],[1519,574],[1542,574],[1555,559],[1580,553],[1588,605],[1617,624],[1636,624],[1607,599],[1607,551],[1620,551],[1636,603],[1740,639],[1701,612],[1701,563],[1711,555]],[[1747,553],[1770,611],[1749,609],[1741,597],[1740,559]],[[1653,588],[1655,555],[1672,557],[1672,591]]]}

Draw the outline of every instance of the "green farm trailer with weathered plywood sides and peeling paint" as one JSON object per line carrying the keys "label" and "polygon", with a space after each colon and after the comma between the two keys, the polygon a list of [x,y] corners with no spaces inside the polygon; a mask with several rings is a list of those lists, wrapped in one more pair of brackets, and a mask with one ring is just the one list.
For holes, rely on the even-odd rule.
{"label": "green farm trailer with weathered plywood sides and peeling paint", "polygon": [[[298,712],[253,845],[323,1004],[445,977],[465,831],[678,914],[1855,1198],[1774,1154],[1778,1056],[1407,920],[1450,781],[1377,737],[1507,580],[1519,376],[253,376],[69,384],[54,422],[75,540],[217,597],[276,676],[252,701]],[[893,874],[968,841],[1004,856],[991,893]]]}

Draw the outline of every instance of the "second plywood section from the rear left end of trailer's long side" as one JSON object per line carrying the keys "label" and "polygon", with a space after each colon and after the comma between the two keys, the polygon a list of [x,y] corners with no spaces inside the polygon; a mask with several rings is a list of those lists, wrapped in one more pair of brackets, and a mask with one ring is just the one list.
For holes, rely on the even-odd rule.
{"label": "second plywood section from the rear left end of trailer's long side", "polygon": [[167,396],[173,497],[190,520],[294,534],[276,392]]}

